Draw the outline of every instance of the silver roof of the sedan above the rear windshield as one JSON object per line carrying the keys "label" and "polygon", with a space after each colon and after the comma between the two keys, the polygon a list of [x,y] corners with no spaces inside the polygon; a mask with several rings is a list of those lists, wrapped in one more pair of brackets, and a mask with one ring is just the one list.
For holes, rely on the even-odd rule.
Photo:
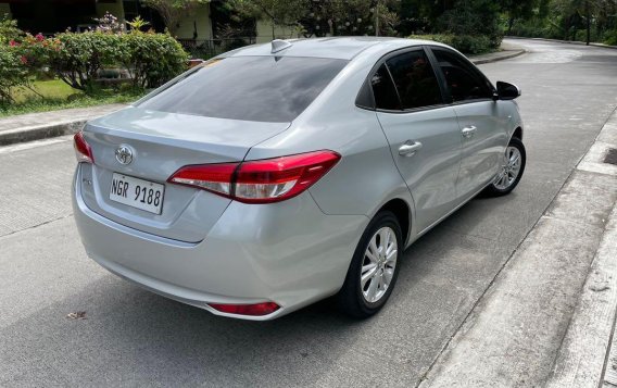
{"label": "silver roof of the sedan above the rear windshield", "polygon": [[221,57],[313,57],[350,61],[362,51],[377,45],[383,46],[388,51],[421,45],[443,46],[429,40],[368,36],[289,39],[285,41],[291,46],[275,53],[272,52],[272,42],[267,42],[243,47]]}

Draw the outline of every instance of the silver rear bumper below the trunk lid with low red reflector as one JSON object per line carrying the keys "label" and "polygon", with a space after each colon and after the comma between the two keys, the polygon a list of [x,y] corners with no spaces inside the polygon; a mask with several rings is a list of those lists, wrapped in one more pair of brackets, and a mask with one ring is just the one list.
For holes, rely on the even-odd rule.
{"label": "silver rear bumper below the trunk lid with low red reflector", "polygon": [[[91,211],[75,173],[73,208],[90,258],[151,291],[218,315],[265,321],[331,296],[344,281],[364,215],[326,215],[308,192],[275,204],[232,201],[204,240],[181,242]],[[265,316],[221,313],[207,303],[274,301]]]}

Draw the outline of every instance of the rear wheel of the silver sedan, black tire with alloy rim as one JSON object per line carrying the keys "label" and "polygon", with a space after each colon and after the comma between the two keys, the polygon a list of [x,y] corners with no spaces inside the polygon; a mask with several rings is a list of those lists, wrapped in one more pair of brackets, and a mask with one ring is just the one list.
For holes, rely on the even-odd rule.
{"label": "rear wheel of the silver sedan, black tire with alloy rim", "polygon": [[[370,221],[355,249],[343,287],[337,296],[339,309],[343,313],[355,318],[366,318],[386,304],[396,283],[403,243],[401,225],[394,213],[381,211]],[[375,248],[378,248],[377,252]],[[392,254],[393,249],[395,252]],[[373,277],[364,280],[363,276],[372,274],[373,270],[367,270],[372,265],[376,265],[376,272]],[[386,283],[387,286],[383,287]],[[376,292],[374,297],[372,291]]]}

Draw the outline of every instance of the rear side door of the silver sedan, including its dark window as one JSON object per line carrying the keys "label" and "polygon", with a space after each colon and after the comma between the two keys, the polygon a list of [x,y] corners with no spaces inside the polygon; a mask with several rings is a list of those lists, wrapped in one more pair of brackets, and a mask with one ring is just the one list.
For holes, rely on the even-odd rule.
{"label": "rear side door of the silver sedan, including its dark window", "polygon": [[386,57],[370,78],[377,117],[414,198],[418,233],[456,201],[461,130],[424,48]]}

